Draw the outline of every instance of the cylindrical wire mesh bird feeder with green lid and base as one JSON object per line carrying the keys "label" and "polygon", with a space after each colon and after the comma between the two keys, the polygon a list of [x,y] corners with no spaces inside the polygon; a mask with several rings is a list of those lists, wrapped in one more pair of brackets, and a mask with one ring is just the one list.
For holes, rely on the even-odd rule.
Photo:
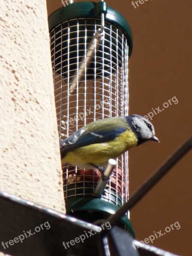
{"label": "cylindrical wire mesh bird feeder with green lid and base", "polygon": [[[127,116],[133,44],[125,18],[103,1],[76,2],[49,16],[49,31],[60,140],[97,119]],[[97,169],[63,166],[68,214],[96,221],[128,200],[128,153],[113,166],[105,180]],[[134,234],[128,215],[122,225]]]}

